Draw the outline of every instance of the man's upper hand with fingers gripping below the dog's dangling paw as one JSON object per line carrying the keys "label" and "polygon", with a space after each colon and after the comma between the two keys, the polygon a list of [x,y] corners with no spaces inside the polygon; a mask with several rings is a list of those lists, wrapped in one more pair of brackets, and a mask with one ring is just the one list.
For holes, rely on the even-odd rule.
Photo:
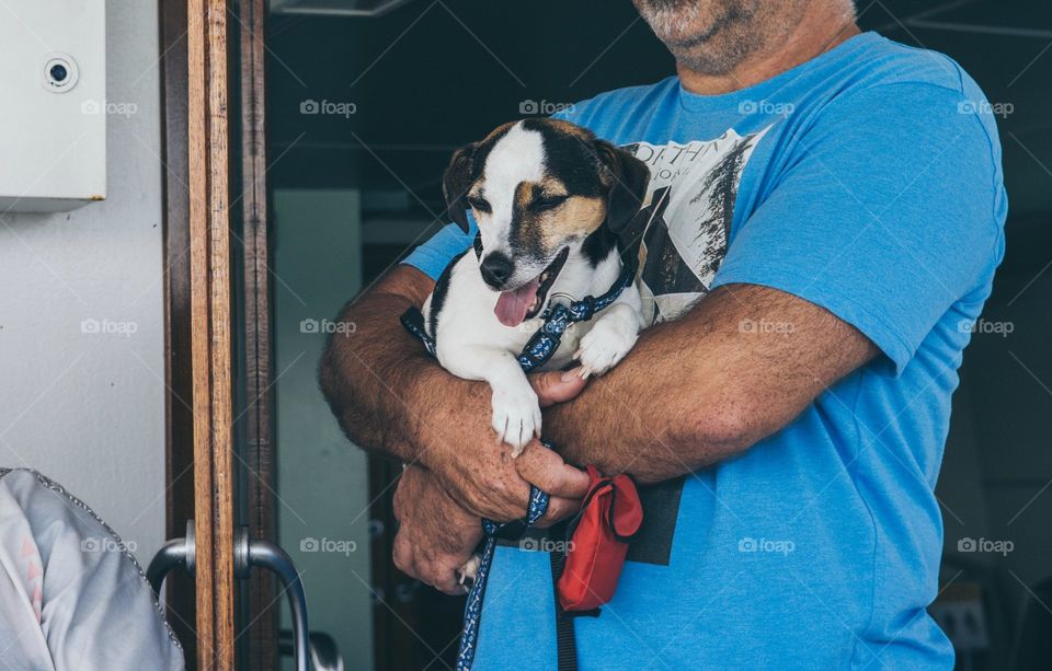
{"label": "man's upper hand with fingers gripping below the dog's dangling paw", "polygon": [[[419,423],[420,462],[437,476],[453,497],[471,512],[498,522],[526,514],[529,482],[516,462],[525,460],[529,473],[551,495],[551,523],[575,511],[588,486],[588,477],[565,464],[536,440],[518,460],[511,447],[498,442],[490,427],[490,390],[484,383],[451,378],[443,370],[428,373],[413,398],[415,407],[428,408]],[[541,407],[569,401],[586,382],[575,373],[539,373],[530,377]],[[453,389],[450,389],[453,386]]]}

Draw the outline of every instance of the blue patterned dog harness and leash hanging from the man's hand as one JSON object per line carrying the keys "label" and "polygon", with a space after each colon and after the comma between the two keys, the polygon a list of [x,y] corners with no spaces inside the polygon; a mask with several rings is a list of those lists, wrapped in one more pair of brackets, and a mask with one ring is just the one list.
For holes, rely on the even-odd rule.
{"label": "blue patterned dog harness and leash hanging from the man's hand", "polygon": [[[541,315],[545,323],[537,329],[526,343],[523,352],[518,355],[518,362],[525,372],[545,365],[559,346],[562,344],[562,334],[576,322],[591,320],[597,312],[608,308],[626,287],[629,287],[636,279],[636,268],[633,265],[626,265],[620,276],[609,288],[609,290],[599,298],[591,296],[584,297],[580,301],[558,303],[550,305]],[[410,308],[401,316],[402,326],[411,334],[416,336],[427,349],[427,354],[435,356],[435,340],[427,334],[424,327],[424,316],[416,308]],[[551,443],[541,441],[548,449],[553,449]],[[533,527],[537,521],[545,517],[548,511],[548,494],[537,487],[529,488],[529,505],[526,509],[526,527]],[[468,592],[468,603],[464,610],[464,633],[460,635],[460,649],[457,653],[457,671],[468,671],[474,661],[474,650],[479,643],[479,629],[482,618],[482,599],[485,595],[485,585],[490,576],[490,567],[493,565],[493,554],[496,552],[496,534],[506,522],[494,522],[493,520],[482,520],[482,533],[485,540],[482,544],[482,554],[480,555],[479,570],[476,574],[474,585]]]}

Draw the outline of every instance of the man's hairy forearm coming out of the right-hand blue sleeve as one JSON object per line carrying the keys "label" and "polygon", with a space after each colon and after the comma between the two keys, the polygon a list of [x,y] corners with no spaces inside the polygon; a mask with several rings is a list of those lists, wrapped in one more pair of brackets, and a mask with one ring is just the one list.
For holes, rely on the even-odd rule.
{"label": "man's hairy forearm coming out of the right-hand blue sleeve", "polygon": [[781,429],[877,352],[858,329],[813,303],[730,285],[682,319],[645,331],[586,393],[547,410],[545,438],[570,463],[644,483],[668,479]]}

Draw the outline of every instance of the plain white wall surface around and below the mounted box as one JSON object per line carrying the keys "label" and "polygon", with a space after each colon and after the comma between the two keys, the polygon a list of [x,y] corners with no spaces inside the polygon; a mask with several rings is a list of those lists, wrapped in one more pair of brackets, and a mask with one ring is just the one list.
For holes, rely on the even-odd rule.
{"label": "plain white wall surface around and below the mounted box", "polygon": [[145,562],[164,534],[157,3],[107,0],[106,24],[107,100],[135,105],[107,119],[106,200],[0,217],[0,465],[56,479]]}

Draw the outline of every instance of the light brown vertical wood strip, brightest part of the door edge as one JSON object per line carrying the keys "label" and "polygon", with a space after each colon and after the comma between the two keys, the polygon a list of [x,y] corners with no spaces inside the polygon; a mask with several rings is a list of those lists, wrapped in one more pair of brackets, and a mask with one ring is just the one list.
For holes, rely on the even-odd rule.
{"label": "light brown vertical wood strip, brightest part of the door edge", "polygon": [[197,667],[227,671],[235,473],[226,0],[188,0],[186,44]]}

